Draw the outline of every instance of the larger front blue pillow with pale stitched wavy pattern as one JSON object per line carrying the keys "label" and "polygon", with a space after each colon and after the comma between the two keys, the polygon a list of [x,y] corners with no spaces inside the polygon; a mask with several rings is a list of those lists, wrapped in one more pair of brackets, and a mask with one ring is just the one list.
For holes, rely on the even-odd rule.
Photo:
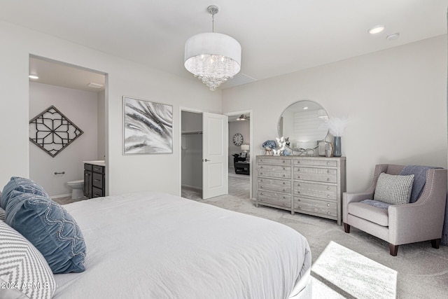
{"label": "larger front blue pillow with pale stitched wavy pattern", "polygon": [[5,196],[3,191],[6,223],[42,253],[53,273],[85,271],[83,233],[73,217],[45,195],[11,190]]}

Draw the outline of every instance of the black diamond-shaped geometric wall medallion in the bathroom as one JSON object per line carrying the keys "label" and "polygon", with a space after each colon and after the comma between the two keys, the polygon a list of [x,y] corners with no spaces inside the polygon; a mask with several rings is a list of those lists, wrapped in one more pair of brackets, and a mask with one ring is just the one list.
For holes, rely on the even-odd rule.
{"label": "black diamond-shaped geometric wall medallion in the bathroom", "polygon": [[81,134],[83,130],[66,118],[55,106],[50,106],[29,120],[29,141],[52,157],[69,146]]}

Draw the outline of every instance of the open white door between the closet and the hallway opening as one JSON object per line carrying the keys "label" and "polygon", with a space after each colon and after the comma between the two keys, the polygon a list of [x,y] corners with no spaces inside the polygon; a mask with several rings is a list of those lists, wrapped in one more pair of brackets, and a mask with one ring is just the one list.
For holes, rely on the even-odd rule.
{"label": "open white door between the closet and the hallway opening", "polygon": [[228,117],[202,113],[202,198],[229,193]]}

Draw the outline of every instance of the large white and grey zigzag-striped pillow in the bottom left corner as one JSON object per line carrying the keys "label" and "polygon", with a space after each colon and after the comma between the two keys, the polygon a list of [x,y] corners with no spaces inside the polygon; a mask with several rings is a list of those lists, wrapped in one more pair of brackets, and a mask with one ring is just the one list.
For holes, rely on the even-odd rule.
{"label": "large white and grey zigzag-striped pillow in the bottom left corner", "polygon": [[50,299],[56,282],[42,254],[0,221],[0,298]]}

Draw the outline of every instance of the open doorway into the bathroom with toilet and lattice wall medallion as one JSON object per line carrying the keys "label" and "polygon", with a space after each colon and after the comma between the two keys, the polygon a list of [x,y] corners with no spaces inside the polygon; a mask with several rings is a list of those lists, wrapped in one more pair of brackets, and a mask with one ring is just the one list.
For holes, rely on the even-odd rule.
{"label": "open doorway into the bathroom with toilet and lattice wall medallion", "polygon": [[83,162],[106,164],[106,74],[34,55],[29,74],[29,178],[62,204],[82,200]]}

